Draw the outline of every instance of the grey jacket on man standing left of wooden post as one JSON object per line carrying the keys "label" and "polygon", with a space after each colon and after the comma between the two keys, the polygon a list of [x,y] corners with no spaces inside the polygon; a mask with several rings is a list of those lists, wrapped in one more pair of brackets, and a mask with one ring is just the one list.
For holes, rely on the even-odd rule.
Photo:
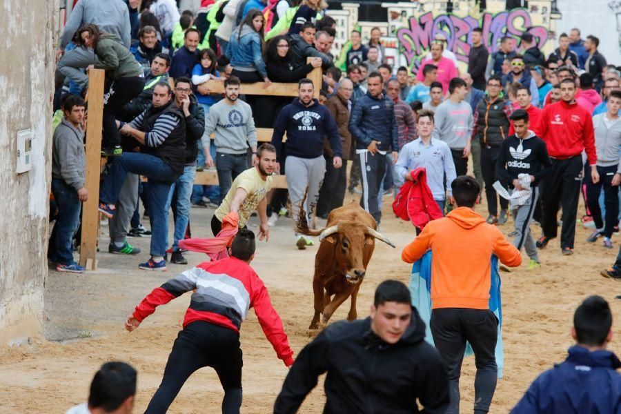
{"label": "grey jacket on man standing left of wooden post", "polygon": [[86,179],[84,132],[64,117],[52,137],[52,178],[65,181],[76,191],[84,186]]}

